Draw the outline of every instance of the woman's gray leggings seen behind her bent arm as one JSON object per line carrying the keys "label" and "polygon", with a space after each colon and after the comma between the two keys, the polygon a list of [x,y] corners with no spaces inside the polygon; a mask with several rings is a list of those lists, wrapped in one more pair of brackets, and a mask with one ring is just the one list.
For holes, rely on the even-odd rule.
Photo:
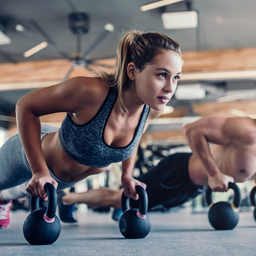
{"label": "woman's gray leggings seen behind her bent arm", "polygon": [[[42,124],[41,140],[49,133],[58,131],[57,127]],[[49,167],[48,167],[49,168]],[[59,180],[49,168],[50,175],[58,182],[57,190],[71,187],[75,182]],[[8,139],[0,148],[0,191],[4,200],[18,199],[28,196],[25,190],[32,178],[31,169],[26,158],[19,135]]]}

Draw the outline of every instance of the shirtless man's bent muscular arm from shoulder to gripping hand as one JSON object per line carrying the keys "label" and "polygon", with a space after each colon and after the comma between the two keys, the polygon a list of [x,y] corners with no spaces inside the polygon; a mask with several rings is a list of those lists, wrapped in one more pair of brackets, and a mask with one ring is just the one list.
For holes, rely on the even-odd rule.
{"label": "shirtless man's bent muscular arm from shoulder to gripping hand", "polygon": [[204,164],[209,177],[208,183],[213,190],[227,190],[228,181],[232,179],[221,173],[211,155],[208,143],[252,145],[256,142],[255,131],[255,121],[244,117],[203,117],[183,127],[187,143],[193,154]]}

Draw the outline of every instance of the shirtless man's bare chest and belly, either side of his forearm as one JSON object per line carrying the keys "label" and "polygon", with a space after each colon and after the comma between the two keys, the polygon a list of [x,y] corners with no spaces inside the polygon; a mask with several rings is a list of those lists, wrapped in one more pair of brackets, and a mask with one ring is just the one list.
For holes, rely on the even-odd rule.
{"label": "shirtless man's bare chest and belly, either side of his forearm", "polygon": [[[234,178],[235,182],[243,182],[256,173],[256,147],[238,147],[214,144],[210,147],[212,156],[223,174]],[[201,160],[192,155],[188,162],[190,179],[198,185],[206,186],[208,176]]]}

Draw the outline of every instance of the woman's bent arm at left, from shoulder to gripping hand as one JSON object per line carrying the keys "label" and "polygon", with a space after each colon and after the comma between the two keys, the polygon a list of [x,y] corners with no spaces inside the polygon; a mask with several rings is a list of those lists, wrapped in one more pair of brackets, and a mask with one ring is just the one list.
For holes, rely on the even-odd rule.
{"label": "woman's bent arm at left, from shoulder to gripping hand", "polygon": [[49,174],[40,141],[39,117],[56,112],[79,111],[92,102],[93,89],[87,86],[88,78],[75,77],[54,86],[31,92],[16,104],[16,119],[20,140],[32,171],[27,191],[33,196],[44,197],[46,182],[57,187]]}

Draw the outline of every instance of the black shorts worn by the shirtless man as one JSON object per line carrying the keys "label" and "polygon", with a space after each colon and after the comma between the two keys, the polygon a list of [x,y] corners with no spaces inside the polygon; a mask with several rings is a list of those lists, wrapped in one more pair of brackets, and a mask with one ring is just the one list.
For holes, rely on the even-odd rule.
{"label": "black shorts worn by the shirtless man", "polygon": [[[148,208],[159,204],[168,207],[181,205],[203,192],[203,186],[194,184],[188,175],[191,153],[176,153],[163,158],[157,166],[137,179],[147,185]],[[130,200],[131,207],[138,208],[139,200]]]}

